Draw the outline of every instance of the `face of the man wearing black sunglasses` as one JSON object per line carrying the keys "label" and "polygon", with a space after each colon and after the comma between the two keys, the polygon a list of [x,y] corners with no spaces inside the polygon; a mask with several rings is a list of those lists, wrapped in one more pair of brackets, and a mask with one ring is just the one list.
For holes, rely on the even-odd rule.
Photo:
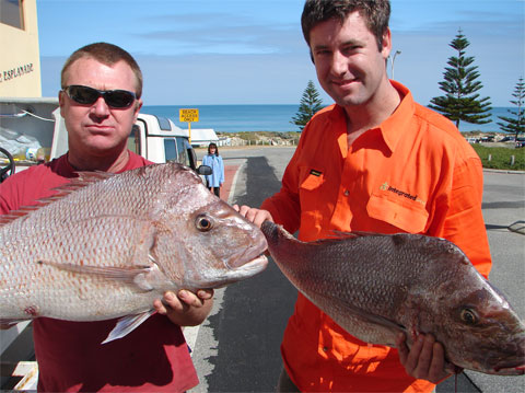
{"label": "face of the man wearing black sunglasses", "polygon": [[[93,58],[81,58],[70,66],[65,82],[66,86],[136,92],[135,73],[125,61],[106,66]],[[93,104],[79,104],[60,91],[59,104],[68,129],[70,154],[101,157],[126,149],[142,101],[136,100],[127,108],[114,108],[102,96]]]}

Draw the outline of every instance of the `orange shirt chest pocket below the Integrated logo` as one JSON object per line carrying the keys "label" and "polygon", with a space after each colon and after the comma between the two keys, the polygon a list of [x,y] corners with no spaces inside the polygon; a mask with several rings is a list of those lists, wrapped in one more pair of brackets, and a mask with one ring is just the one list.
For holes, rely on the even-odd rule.
{"label": "orange shirt chest pocket below the Integrated logo", "polygon": [[366,211],[370,217],[387,222],[407,233],[422,233],[429,220],[429,212],[418,201],[404,204],[383,195],[372,195],[366,205]]}

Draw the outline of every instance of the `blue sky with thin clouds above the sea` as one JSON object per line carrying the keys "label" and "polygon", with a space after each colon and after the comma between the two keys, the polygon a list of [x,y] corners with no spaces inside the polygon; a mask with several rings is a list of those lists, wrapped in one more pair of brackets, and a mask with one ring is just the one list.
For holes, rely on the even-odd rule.
{"label": "blue sky with thin clouds above the sea", "polygon": [[[300,18],[303,0],[37,0],[44,96],[66,58],[100,41],[131,53],[145,105],[296,104],[318,86]],[[470,42],[481,96],[510,106],[525,78],[524,0],[392,0],[395,79],[427,105],[442,95],[448,44]],[[390,67],[388,66],[388,70]],[[318,88],[319,92],[322,89]],[[331,99],[322,92],[325,104]]]}

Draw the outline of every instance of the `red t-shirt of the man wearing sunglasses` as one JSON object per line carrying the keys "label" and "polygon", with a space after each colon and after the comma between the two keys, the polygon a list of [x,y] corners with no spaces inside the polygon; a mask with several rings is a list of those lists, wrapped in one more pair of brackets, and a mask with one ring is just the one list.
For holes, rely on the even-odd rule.
{"label": "red t-shirt of the man wearing sunglasses", "polygon": [[[130,152],[122,172],[148,164]],[[67,155],[9,177],[0,184],[0,213],[34,205],[71,177]],[[198,384],[183,332],[166,316],[154,314],[127,336],[101,345],[115,324],[34,320],[38,391],[182,392]]]}

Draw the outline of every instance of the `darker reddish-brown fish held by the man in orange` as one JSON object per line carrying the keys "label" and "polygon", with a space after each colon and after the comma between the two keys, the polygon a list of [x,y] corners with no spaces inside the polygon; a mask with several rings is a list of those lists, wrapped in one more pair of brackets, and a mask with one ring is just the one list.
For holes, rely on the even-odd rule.
{"label": "darker reddish-brown fish held by the man in orange", "polygon": [[284,276],[359,339],[395,347],[399,332],[409,345],[431,333],[459,368],[524,373],[523,322],[453,243],[408,233],[305,243],[270,221],[261,230]]}

